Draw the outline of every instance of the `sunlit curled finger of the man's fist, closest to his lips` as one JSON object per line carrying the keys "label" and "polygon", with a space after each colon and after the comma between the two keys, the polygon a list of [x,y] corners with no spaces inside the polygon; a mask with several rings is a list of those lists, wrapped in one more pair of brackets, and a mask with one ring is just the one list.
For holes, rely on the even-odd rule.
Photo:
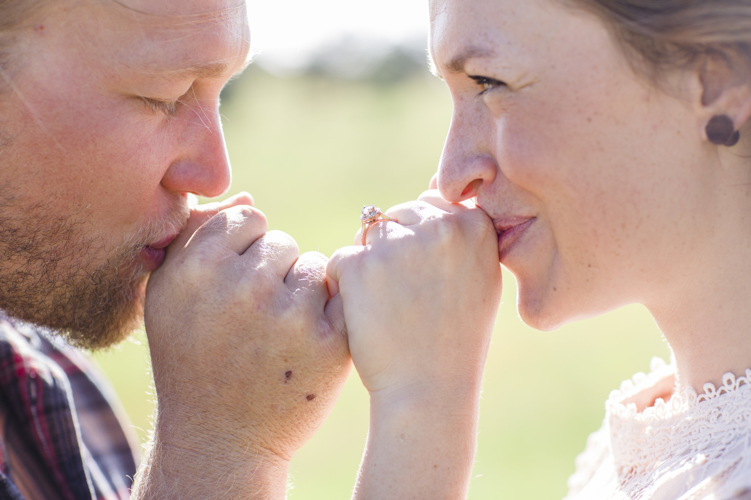
{"label": "sunlit curled finger of the man's fist, closest to his lips", "polygon": [[199,227],[186,247],[218,244],[242,255],[268,227],[266,216],[258,208],[248,205],[225,208]]}

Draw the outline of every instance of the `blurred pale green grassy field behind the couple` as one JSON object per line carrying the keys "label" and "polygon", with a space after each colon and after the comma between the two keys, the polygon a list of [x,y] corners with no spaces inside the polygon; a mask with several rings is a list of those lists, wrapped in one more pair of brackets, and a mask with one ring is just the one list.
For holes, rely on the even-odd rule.
{"label": "blurred pale green grassy field behind the couple", "polygon": [[[249,191],[271,229],[327,255],[352,244],[363,204],[385,209],[427,187],[451,118],[445,85],[425,71],[348,80],[315,71],[272,76],[254,65],[222,99],[231,193]],[[638,306],[534,331],[518,319],[514,277],[504,279],[469,498],[558,500],[609,391],[647,371],[653,355],[667,359],[668,348]],[[152,406],[143,334],[95,358],[145,439]],[[294,459],[289,498],[348,499],[367,424],[368,397],[353,371]]]}

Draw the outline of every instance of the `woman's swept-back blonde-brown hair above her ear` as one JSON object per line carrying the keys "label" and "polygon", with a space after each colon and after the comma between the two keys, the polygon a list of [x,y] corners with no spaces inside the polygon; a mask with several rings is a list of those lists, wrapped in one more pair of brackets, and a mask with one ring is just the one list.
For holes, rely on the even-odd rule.
{"label": "woman's swept-back blonde-brown hair above her ear", "polygon": [[751,73],[751,0],[566,0],[596,14],[650,76],[721,59]]}

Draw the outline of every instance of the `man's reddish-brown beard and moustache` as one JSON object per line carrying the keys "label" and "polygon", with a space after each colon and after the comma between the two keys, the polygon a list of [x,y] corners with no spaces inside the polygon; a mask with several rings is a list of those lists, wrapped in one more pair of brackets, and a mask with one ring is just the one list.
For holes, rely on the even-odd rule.
{"label": "man's reddish-brown beard and moustache", "polygon": [[139,253],[183,228],[185,198],[176,196],[164,217],[128,235],[104,260],[106,241],[93,224],[43,206],[11,216],[5,208],[14,201],[0,196],[0,310],[85,349],[113,346],[143,325],[149,273]]}

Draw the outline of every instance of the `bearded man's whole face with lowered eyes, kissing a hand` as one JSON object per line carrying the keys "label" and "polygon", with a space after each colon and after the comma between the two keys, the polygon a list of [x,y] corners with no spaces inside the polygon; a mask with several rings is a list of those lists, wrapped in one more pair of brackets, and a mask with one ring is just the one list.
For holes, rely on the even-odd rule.
{"label": "bearded man's whole face with lowered eyes, kissing a hand", "polygon": [[82,346],[121,340],[190,193],[230,184],[219,92],[238,0],[80,0],[23,29],[0,75],[0,309]]}

